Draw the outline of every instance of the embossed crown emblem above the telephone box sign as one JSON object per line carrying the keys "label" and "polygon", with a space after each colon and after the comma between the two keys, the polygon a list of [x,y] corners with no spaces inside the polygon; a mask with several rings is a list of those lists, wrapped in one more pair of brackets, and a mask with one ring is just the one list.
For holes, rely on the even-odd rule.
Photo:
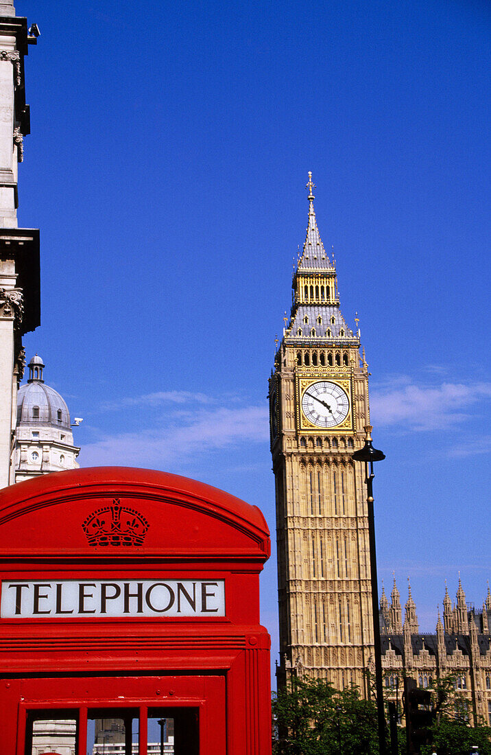
{"label": "embossed crown emblem above the telephone box sign", "polygon": [[143,545],[149,522],[137,510],[121,506],[119,498],[112,506],[103,506],[87,516],[82,529],[89,545]]}

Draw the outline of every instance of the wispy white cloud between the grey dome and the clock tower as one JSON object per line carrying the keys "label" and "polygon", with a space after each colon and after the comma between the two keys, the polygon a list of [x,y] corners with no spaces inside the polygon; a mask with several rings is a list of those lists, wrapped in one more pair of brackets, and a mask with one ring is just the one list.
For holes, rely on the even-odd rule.
{"label": "wispy white cloud between the grey dome and the clock tower", "polygon": [[266,406],[238,408],[199,408],[186,411],[179,424],[175,417],[165,427],[142,427],[137,433],[103,435],[85,444],[81,452],[84,467],[127,464],[161,467],[186,464],[192,457],[241,443],[267,442],[268,409]]}

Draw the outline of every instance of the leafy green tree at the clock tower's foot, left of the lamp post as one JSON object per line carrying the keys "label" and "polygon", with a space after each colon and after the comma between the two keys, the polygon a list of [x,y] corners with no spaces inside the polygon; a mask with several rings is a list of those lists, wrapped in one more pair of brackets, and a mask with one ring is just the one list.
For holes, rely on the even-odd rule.
{"label": "leafy green tree at the clock tower's foot, left of the lamp post", "polygon": [[273,695],[275,755],[377,755],[376,707],[357,687],[291,680]]}

